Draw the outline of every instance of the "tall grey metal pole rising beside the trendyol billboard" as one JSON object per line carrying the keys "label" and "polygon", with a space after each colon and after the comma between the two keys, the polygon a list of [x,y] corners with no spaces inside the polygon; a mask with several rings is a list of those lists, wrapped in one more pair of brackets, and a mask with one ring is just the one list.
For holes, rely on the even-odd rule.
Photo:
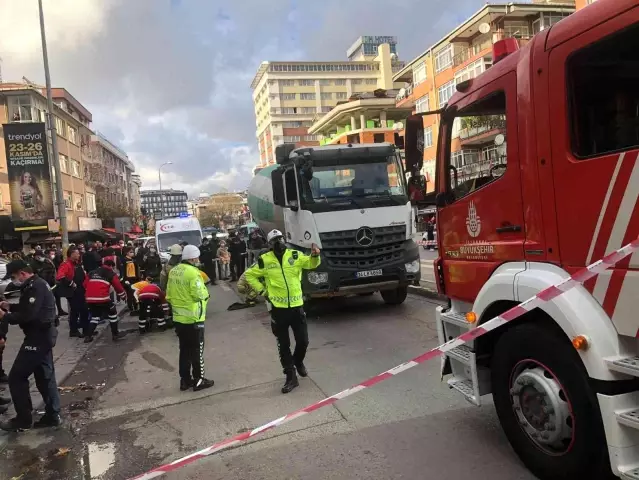
{"label": "tall grey metal pole rising beside the trendyol billboard", "polygon": [[47,85],[47,128],[51,135],[51,150],[53,171],[55,172],[56,203],[58,204],[58,217],[60,219],[60,233],[62,234],[62,248],[69,246],[69,229],[67,227],[67,209],[64,204],[64,189],[62,187],[62,173],[60,171],[60,155],[58,154],[58,136],[55,130],[55,119],[53,116],[53,96],[51,93],[51,75],[49,74],[49,55],[47,54],[47,37],[44,32],[44,12],[42,11],[42,0],[38,0],[40,10],[40,36],[42,37],[42,60],[44,63],[44,79]]}

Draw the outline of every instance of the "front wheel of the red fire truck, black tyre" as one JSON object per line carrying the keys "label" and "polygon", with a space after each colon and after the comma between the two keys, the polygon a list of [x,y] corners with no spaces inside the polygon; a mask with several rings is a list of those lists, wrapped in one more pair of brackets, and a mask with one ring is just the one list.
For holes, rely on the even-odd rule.
{"label": "front wheel of the red fire truck, black tyre", "polygon": [[540,325],[504,333],[492,358],[493,400],[508,441],[541,480],[611,478],[597,398],[572,345]]}

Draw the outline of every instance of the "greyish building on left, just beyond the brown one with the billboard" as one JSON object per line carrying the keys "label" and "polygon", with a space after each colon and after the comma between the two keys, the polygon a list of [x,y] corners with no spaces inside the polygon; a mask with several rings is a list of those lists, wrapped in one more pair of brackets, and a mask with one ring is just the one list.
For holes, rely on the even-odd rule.
{"label": "greyish building on left, just beyond the brown one with the billboard", "polygon": [[84,132],[82,148],[87,184],[94,189],[96,200],[107,205],[140,209],[139,175],[129,156],[100,132]]}

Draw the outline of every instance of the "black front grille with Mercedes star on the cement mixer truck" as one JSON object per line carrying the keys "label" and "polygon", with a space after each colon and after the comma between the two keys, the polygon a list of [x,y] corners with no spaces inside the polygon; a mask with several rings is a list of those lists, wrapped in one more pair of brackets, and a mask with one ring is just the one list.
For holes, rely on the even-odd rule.
{"label": "black front grille with Mercedes star on the cement mixer truck", "polygon": [[406,225],[370,228],[373,241],[369,246],[362,246],[357,242],[359,230],[320,233],[322,252],[329,267],[371,270],[402,258]]}

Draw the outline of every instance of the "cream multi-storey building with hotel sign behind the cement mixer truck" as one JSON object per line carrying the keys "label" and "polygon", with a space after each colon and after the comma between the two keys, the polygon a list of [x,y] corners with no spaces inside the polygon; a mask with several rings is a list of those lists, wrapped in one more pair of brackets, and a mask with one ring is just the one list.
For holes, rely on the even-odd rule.
{"label": "cream multi-storey building with hotel sign behind the cement mixer truck", "polygon": [[363,36],[349,48],[348,60],[262,62],[251,88],[260,165],[275,161],[275,146],[319,144],[308,129],[318,118],[351,96],[393,88],[397,59],[395,37]]}

